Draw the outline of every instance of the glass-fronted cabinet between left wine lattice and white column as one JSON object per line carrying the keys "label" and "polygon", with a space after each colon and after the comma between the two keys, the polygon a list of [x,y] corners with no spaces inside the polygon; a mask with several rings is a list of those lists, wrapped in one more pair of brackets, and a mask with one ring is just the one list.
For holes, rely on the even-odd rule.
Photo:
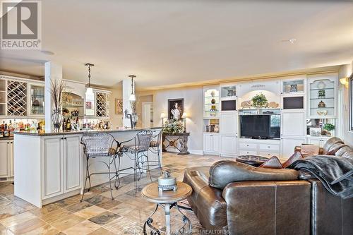
{"label": "glass-fronted cabinet between left wine lattice and white column", "polygon": [[30,115],[44,115],[44,87],[30,85]]}

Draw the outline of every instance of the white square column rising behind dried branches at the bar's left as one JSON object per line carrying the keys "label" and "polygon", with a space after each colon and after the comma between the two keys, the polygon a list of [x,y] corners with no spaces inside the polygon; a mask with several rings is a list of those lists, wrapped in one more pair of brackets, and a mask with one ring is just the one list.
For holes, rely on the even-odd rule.
{"label": "white square column rising behind dried branches at the bar's left", "polygon": [[60,64],[56,64],[53,61],[45,62],[44,64],[45,73],[45,88],[44,88],[44,98],[45,98],[45,131],[53,131],[54,126],[52,125],[52,112],[54,110],[54,103],[52,101],[52,96],[50,95],[50,89],[52,88],[51,80],[61,80],[63,78],[63,69]]}

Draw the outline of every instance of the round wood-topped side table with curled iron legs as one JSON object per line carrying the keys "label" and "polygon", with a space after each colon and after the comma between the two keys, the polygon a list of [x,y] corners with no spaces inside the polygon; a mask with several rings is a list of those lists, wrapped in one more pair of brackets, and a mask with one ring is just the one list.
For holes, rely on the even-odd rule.
{"label": "round wood-topped side table with curled iron legs", "polygon": [[[158,191],[158,183],[150,183],[148,186],[145,186],[145,188],[143,188],[141,192],[143,198],[152,203],[156,203],[156,207],[155,210],[152,212],[152,215],[155,214],[158,209],[158,206],[164,208],[166,227],[165,234],[167,235],[170,234],[170,209],[174,206],[177,207],[178,212],[183,216],[184,226],[178,229],[179,232],[184,234],[191,234],[191,222],[189,218],[186,217],[186,215],[184,215],[183,212],[180,211],[178,207],[178,202],[188,198],[193,192],[193,189],[188,184],[183,182],[177,182],[177,186],[177,191],[160,192]],[[160,231],[152,225],[152,215],[150,215],[150,217],[148,217],[148,219],[146,220],[145,224],[143,224],[143,234],[145,235],[147,235],[146,224],[152,230],[151,234],[160,234]],[[186,224],[189,224],[188,229],[185,229]]]}

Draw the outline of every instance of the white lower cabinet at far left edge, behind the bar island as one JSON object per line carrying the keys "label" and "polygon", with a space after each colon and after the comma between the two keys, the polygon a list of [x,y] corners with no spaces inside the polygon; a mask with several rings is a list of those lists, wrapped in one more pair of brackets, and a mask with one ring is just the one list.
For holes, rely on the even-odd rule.
{"label": "white lower cabinet at far left edge, behind the bar island", "polygon": [[13,177],[13,140],[0,140],[0,180]]}

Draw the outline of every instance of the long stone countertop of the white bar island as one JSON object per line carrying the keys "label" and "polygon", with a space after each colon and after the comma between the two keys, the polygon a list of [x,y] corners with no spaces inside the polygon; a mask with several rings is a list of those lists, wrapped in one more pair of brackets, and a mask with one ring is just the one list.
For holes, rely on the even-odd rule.
{"label": "long stone countertop of the white bar island", "polygon": [[162,127],[151,127],[151,128],[142,128],[142,127],[136,127],[136,128],[116,128],[116,129],[107,129],[107,130],[82,130],[82,131],[59,131],[59,132],[45,132],[45,131],[36,131],[36,132],[31,132],[31,131],[14,131],[13,134],[15,135],[32,135],[32,136],[48,136],[48,135],[74,135],[74,134],[82,134],[82,133],[100,133],[100,132],[108,132],[108,133],[113,133],[113,132],[124,132],[124,131],[143,131],[147,129],[161,129]]}

